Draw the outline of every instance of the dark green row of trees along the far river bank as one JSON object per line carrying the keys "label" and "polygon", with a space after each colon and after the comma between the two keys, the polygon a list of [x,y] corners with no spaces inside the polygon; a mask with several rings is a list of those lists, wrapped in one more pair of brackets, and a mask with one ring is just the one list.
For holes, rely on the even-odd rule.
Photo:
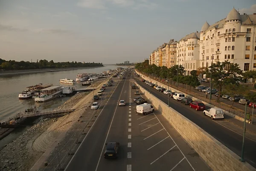
{"label": "dark green row of trees along the far river bank", "polygon": [[30,69],[44,69],[44,68],[69,68],[69,67],[100,67],[102,63],[91,63],[91,62],[53,62],[47,61],[46,59],[40,60],[39,62],[17,62],[15,60],[6,61],[0,59],[0,70],[30,70]]}

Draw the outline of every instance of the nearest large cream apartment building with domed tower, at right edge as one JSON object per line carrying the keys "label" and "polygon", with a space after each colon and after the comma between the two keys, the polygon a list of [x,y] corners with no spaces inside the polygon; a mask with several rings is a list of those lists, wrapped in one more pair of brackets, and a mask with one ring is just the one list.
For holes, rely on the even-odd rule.
{"label": "nearest large cream apartment building with domed tower, at right edge", "polygon": [[198,43],[200,67],[228,60],[241,70],[256,70],[256,13],[240,15],[233,8],[224,20],[205,22]]}

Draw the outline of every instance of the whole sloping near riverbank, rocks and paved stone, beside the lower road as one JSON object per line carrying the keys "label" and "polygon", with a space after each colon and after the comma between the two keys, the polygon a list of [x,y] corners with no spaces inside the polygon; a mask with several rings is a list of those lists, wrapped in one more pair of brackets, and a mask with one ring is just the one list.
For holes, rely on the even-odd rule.
{"label": "whole sloping near riverbank, rocks and paved stone, beside the lower road", "polygon": [[[106,80],[102,79],[94,83],[94,86],[98,87],[97,90],[101,87],[99,85],[105,84]],[[92,94],[93,92],[84,92],[74,95],[58,108],[73,107],[76,109],[75,112],[69,115],[42,118],[16,140],[1,149],[0,171],[28,171],[35,163],[40,163],[39,159],[42,154],[52,146],[57,146],[58,143],[55,142],[58,138],[65,135],[74,121],[84,112],[86,108],[81,107],[90,103]]]}

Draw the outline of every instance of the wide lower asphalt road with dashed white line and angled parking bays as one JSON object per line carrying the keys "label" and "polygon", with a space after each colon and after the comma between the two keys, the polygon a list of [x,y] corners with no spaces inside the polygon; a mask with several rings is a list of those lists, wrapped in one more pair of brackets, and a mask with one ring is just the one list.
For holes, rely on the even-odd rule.
{"label": "wide lower asphalt road with dashed white line and angled parking bays", "polygon": [[[131,73],[131,71],[128,71]],[[209,171],[198,156],[157,110],[138,115],[132,101],[133,77],[119,82],[66,167],[66,171]],[[143,98],[146,98],[142,95]],[[125,100],[126,106],[118,106]],[[119,157],[105,159],[105,143],[120,143]]]}

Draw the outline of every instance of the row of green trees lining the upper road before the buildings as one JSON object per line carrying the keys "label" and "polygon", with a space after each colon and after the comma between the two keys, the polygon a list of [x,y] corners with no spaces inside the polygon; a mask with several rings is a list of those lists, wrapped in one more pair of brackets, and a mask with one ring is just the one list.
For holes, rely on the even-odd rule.
{"label": "row of green trees lining the upper road before the buildings", "polygon": [[[199,75],[206,74],[206,78],[210,78],[212,75],[212,86],[222,92],[234,96],[236,94],[242,94],[249,98],[251,101],[256,101],[255,93],[250,93],[247,86],[241,85],[244,78],[249,78],[254,83],[256,81],[256,71],[250,70],[243,73],[238,64],[232,64],[229,61],[216,62],[210,67],[198,68],[198,70],[190,71],[190,76],[185,76],[185,69],[182,65],[174,65],[167,68],[165,66],[157,67],[155,64],[149,65],[148,60],[135,65],[135,68],[140,72],[143,72],[149,76],[153,76],[161,79],[168,79],[175,84],[186,84],[191,87],[200,85],[198,81]],[[218,96],[218,100],[221,97],[221,93]]]}

